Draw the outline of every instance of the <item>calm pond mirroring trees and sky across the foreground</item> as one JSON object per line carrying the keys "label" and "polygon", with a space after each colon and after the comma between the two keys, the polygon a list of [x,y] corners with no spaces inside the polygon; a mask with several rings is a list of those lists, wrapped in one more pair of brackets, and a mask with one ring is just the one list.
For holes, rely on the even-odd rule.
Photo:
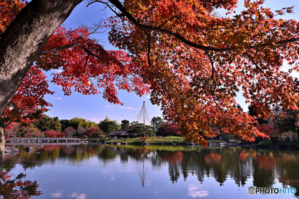
{"label": "calm pond mirroring trees and sky across the foreground", "polygon": [[250,186],[299,193],[298,150],[39,143],[35,152],[36,145],[6,145],[20,152],[4,157],[0,198],[298,198],[251,196]]}

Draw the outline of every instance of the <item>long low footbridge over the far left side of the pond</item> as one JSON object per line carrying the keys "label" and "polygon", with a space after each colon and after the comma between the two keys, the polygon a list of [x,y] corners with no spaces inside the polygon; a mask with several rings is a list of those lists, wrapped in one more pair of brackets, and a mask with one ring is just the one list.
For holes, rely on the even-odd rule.
{"label": "long low footbridge over the far left side of the pond", "polygon": [[82,141],[88,141],[91,142],[91,138],[81,139],[81,138],[8,138],[11,141],[25,141],[25,142],[49,142],[49,141],[64,141],[64,142],[82,142]]}

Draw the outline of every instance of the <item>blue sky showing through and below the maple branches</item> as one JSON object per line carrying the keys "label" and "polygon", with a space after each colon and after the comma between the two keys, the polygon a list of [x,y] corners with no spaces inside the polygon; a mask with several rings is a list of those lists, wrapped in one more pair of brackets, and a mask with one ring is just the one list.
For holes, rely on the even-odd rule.
{"label": "blue sky showing through and below the maple branches", "polygon": [[[236,10],[238,14],[243,10],[242,4],[244,1],[239,1],[239,7]],[[105,13],[101,11],[100,3],[92,4],[86,7],[86,3],[82,2],[79,4],[71,13],[71,15],[65,20],[64,27],[66,28],[76,28],[78,27],[78,22],[91,25],[98,18],[107,18],[112,13],[106,10]],[[299,6],[296,0],[266,0],[265,6],[272,8],[274,10],[280,10],[282,7],[295,6],[294,13],[282,16],[281,18],[294,18],[299,20]],[[107,41],[107,35],[105,33],[97,35],[97,38],[102,38],[103,41]],[[107,50],[114,50],[115,48],[109,45],[109,42],[103,43]],[[54,71],[46,72],[49,80],[51,80],[51,73]],[[134,93],[127,93],[125,91],[118,91],[118,98],[123,102],[123,106],[117,104],[110,104],[102,98],[102,95],[82,95],[80,93],[72,92],[70,96],[65,96],[62,92],[61,87],[50,83],[50,90],[55,91],[54,95],[47,95],[45,99],[50,102],[53,107],[50,111],[46,112],[46,115],[50,117],[58,116],[59,119],[71,119],[72,117],[81,117],[94,122],[99,122],[108,116],[110,120],[117,120],[119,123],[121,120],[129,120],[132,122],[137,116],[140,108],[142,107],[143,101],[145,101],[145,106],[149,115],[152,117],[161,117],[162,112],[160,107],[152,105],[149,101],[149,95],[144,95],[141,98],[136,96]],[[244,111],[247,111],[248,104],[245,104],[244,99],[241,97],[241,93],[237,98],[237,102],[241,105]]]}

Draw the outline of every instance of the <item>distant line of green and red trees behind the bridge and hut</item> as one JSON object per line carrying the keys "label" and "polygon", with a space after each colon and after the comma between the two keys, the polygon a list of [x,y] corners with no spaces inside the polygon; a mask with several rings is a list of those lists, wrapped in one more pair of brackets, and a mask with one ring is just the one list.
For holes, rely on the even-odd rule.
{"label": "distant line of green and red trees behind the bridge and hut", "polygon": [[161,117],[153,117],[151,125],[144,125],[137,121],[129,122],[122,120],[121,124],[110,120],[108,116],[99,123],[81,118],[73,117],[70,120],[48,115],[39,115],[33,122],[13,121],[5,128],[8,137],[85,137],[98,138],[109,135],[119,129],[123,129],[136,136],[179,136],[179,128],[174,122],[164,122]]}

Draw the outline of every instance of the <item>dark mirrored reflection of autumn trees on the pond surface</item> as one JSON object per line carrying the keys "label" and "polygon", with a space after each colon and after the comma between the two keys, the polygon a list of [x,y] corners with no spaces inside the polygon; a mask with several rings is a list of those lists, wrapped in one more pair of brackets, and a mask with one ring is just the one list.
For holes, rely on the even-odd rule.
{"label": "dark mirrored reflection of autumn trees on the pond surface", "polygon": [[[86,162],[89,164],[97,162],[98,165],[101,165],[99,168],[103,169],[103,171],[99,171],[104,176],[101,178],[107,179],[106,173],[113,174],[109,174],[108,177],[111,183],[118,183],[119,178],[129,180],[129,178],[133,178],[132,173],[134,172],[138,175],[139,185],[142,187],[161,186],[162,182],[160,181],[162,180],[158,181],[148,175],[152,171],[168,172],[170,185],[175,185],[180,181],[188,182],[188,178],[195,176],[199,183],[191,182],[186,187],[187,195],[190,197],[211,196],[211,192],[205,187],[210,179],[213,179],[216,182],[214,186],[218,187],[233,181],[235,186],[239,187],[238,189],[242,187],[247,189],[251,185],[255,187],[274,187],[275,185],[278,187],[290,186],[299,190],[299,157],[298,151],[295,150],[46,143],[41,144],[42,149],[39,153],[28,153],[23,149],[28,146],[33,147],[34,144],[13,143],[10,146],[19,148],[20,153],[5,157],[4,165],[1,168],[2,184],[7,182],[3,180],[4,173],[11,172],[16,165],[22,166],[25,172],[28,169],[45,165],[55,165],[57,162],[60,165],[83,167],[84,170],[88,170]],[[135,165],[136,170],[129,166],[132,164]],[[116,168],[118,170],[112,170]],[[122,175],[126,173],[130,175],[123,177]],[[16,177],[13,182],[16,182],[13,183],[16,186],[20,186],[17,185],[19,177]],[[2,185],[2,187],[4,186]],[[30,187],[32,190],[28,191],[27,188],[24,188],[20,189],[20,192],[27,190],[30,194],[41,194],[36,191],[38,187],[36,181],[27,182],[26,187],[28,189]],[[7,190],[14,191],[13,188],[7,188]],[[70,192],[68,195],[63,192],[52,192],[50,197],[90,198],[82,192]]]}

